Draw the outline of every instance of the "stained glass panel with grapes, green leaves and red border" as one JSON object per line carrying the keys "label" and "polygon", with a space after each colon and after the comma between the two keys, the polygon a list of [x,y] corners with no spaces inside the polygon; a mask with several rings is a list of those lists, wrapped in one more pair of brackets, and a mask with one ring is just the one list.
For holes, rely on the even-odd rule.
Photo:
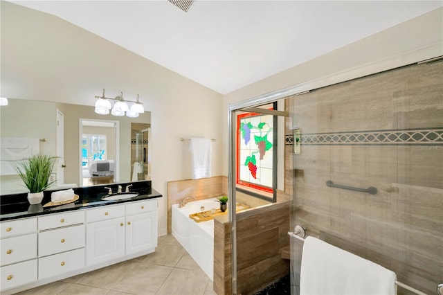
{"label": "stained glass panel with grapes, green leaves and red border", "polygon": [[238,116],[237,183],[272,192],[273,116]]}

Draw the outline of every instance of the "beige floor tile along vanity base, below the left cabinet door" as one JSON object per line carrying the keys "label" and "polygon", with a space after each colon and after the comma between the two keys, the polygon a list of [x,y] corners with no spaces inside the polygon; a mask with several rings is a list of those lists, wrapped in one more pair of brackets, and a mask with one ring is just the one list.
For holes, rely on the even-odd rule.
{"label": "beige floor tile along vanity base, below the left cabinet door", "polygon": [[110,265],[109,267],[96,269],[95,271],[84,274],[84,276],[78,280],[78,284],[103,289],[113,289],[122,278],[131,273],[136,265],[135,262],[125,261],[117,263],[116,265]]}

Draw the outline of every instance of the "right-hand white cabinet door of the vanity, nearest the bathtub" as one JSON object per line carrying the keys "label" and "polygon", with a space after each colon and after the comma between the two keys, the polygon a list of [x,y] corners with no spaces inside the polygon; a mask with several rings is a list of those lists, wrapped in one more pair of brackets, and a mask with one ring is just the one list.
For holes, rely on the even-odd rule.
{"label": "right-hand white cabinet door of the vanity, nearest the bathtub", "polygon": [[126,253],[132,254],[157,246],[156,212],[126,217]]}

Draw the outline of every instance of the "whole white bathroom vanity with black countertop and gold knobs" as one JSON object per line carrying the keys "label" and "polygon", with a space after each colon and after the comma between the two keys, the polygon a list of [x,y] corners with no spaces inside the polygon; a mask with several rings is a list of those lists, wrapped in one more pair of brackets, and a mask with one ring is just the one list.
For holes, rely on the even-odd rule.
{"label": "whole white bathroom vanity with black countertop and gold knobs", "polygon": [[[150,181],[129,184],[136,197],[103,201],[105,186],[75,188],[77,202],[50,208],[27,204],[26,194],[1,196],[1,294],[154,252],[162,195]],[[116,191],[117,184],[107,186]],[[45,192],[42,204],[51,193]]]}

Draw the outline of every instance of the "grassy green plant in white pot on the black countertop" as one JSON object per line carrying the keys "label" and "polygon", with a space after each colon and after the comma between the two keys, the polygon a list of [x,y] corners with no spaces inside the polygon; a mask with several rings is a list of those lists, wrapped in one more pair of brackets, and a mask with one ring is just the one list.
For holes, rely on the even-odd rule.
{"label": "grassy green plant in white pot on the black countertop", "polygon": [[55,157],[46,154],[34,154],[29,159],[19,161],[17,174],[28,188],[29,204],[39,204],[43,199],[43,190],[51,186],[54,181],[49,181],[53,172]]}

